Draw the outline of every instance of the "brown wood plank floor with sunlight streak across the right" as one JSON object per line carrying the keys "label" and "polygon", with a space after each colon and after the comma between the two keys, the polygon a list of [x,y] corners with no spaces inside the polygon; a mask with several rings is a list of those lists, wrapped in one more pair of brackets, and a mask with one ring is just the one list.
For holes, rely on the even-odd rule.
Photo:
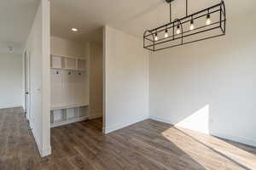
{"label": "brown wood plank floor with sunlight streak across the right", "polygon": [[102,120],[51,129],[41,158],[20,108],[0,110],[0,170],[255,170],[256,148],[146,120],[102,133]]}

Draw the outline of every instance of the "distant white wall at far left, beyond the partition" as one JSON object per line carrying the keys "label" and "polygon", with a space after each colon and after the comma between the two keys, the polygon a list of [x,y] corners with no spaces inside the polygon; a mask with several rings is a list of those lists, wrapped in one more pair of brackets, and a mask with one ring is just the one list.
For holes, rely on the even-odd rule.
{"label": "distant white wall at far left, beyond the partition", "polygon": [[23,105],[21,54],[0,54],[0,109]]}

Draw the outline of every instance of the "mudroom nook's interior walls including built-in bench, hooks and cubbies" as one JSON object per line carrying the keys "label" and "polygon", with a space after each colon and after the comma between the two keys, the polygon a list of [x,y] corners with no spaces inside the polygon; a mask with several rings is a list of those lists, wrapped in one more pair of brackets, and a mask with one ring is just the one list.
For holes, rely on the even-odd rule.
{"label": "mudroom nook's interior walls including built-in bench, hooks and cubbies", "polygon": [[50,44],[51,127],[95,119],[102,126],[102,41],[51,35]]}

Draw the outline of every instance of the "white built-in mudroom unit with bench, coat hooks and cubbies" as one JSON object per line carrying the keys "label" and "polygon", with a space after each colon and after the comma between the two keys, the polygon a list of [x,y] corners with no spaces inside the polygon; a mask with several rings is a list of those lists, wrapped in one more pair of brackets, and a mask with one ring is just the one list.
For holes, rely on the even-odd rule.
{"label": "white built-in mudroom unit with bench, coat hooks and cubbies", "polygon": [[51,54],[51,127],[89,118],[86,59]]}

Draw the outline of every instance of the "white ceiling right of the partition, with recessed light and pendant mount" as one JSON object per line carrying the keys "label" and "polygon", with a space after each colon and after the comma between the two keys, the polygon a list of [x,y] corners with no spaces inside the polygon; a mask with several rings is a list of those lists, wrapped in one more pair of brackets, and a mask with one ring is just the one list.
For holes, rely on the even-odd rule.
{"label": "white ceiling right of the partition, with recessed light and pendant mount", "polygon": [[[220,0],[189,0],[189,13],[210,7]],[[255,7],[255,0],[225,0],[228,18],[245,14]],[[185,14],[185,0],[172,3],[173,18]],[[71,40],[100,41],[100,28],[113,26],[136,37],[143,31],[166,24],[169,8],[165,0],[52,0],[51,33]],[[78,32],[70,31],[76,27]],[[92,33],[93,32],[93,33]]]}

